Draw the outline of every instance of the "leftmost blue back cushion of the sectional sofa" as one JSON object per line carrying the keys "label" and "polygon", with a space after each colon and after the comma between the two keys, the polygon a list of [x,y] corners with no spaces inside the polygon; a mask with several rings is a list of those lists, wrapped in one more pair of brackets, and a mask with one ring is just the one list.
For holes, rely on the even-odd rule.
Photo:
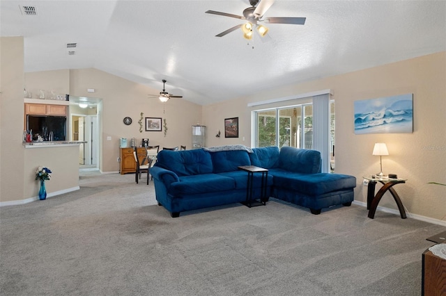
{"label": "leftmost blue back cushion of the sectional sofa", "polygon": [[203,149],[185,151],[161,150],[158,153],[156,165],[175,172],[178,176],[210,174],[213,172],[210,154]]}

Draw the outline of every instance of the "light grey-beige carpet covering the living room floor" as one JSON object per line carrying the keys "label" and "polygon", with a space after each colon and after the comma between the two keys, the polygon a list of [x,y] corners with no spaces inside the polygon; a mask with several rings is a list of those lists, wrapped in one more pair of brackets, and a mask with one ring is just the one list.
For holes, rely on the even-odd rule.
{"label": "light grey-beige carpet covering the living room floor", "polygon": [[277,199],[171,218],[132,174],[80,186],[0,208],[1,295],[420,295],[425,238],[445,230]]}

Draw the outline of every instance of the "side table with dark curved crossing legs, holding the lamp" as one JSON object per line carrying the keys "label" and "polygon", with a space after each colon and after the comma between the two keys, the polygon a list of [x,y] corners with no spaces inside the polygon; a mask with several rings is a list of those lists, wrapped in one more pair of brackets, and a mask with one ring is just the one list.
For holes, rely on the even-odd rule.
{"label": "side table with dark curved crossing legs, holding the lamp", "polygon": [[[399,183],[406,183],[407,179],[391,179],[384,176],[374,175],[363,176],[363,178],[369,180],[369,188],[367,190],[367,210],[369,210],[368,217],[370,219],[374,219],[376,208],[378,208],[378,204],[387,190],[389,190],[390,194],[392,194],[393,199],[397,203],[401,219],[406,219],[406,211],[404,211],[403,203],[401,202],[397,191],[395,191],[392,187]],[[376,182],[383,184],[383,187],[381,187],[375,195]]]}

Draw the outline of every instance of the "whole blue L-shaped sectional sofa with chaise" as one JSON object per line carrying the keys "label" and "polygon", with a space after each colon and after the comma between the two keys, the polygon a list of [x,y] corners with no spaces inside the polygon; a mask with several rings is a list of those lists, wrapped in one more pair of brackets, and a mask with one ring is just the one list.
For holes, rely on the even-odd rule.
{"label": "whole blue L-shaped sectional sofa with chaise", "polygon": [[[160,206],[172,217],[199,208],[244,202],[247,196],[247,172],[240,165],[268,169],[266,199],[282,199],[310,209],[353,201],[354,176],[321,173],[321,154],[293,147],[243,145],[211,147],[186,151],[162,150],[150,173]],[[261,196],[261,176],[254,173],[253,196]]]}

